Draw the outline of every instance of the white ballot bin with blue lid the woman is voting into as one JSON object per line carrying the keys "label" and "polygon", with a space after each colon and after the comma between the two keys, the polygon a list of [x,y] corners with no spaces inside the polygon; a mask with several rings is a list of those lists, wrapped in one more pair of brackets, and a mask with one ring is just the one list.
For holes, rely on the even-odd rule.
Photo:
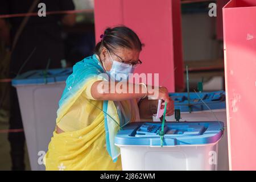
{"label": "white ballot bin with blue lid the woman is voting into", "polygon": [[160,122],[134,122],[115,137],[123,170],[216,170],[223,123],[167,122],[163,147]]}

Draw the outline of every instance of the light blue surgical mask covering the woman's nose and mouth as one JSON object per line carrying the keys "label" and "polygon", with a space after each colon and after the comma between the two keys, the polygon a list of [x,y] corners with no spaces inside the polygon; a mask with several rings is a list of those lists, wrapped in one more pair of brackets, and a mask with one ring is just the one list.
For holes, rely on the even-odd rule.
{"label": "light blue surgical mask covering the woman's nose and mouth", "polygon": [[[109,53],[110,58],[113,61],[113,64],[112,64],[112,68],[110,69],[110,71],[106,71],[106,73],[108,73],[109,77],[112,80],[115,80],[115,81],[126,81],[126,80],[128,80],[129,73],[134,72],[133,66],[130,65],[130,64],[121,63],[119,61],[113,60],[112,56],[110,55],[109,50],[108,50],[108,53]],[[104,62],[103,62],[103,66],[106,70]]]}

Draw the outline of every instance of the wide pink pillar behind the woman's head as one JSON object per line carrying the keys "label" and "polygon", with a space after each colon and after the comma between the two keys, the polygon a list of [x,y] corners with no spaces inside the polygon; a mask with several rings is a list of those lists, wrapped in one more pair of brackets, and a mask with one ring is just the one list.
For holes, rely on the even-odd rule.
{"label": "wide pink pillar behind the woman's head", "polygon": [[159,73],[159,85],[174,92],[175,81],[183,88],[180,17],[180,0],[95,0],[96,42],[106,27],[131,28],[145,44],[136,72]]}

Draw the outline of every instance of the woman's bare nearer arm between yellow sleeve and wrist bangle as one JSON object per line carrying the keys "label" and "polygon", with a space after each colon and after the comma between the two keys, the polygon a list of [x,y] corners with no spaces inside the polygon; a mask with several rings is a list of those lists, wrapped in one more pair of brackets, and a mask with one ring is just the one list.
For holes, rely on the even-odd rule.
{"label": "woman's bare nearer arm between yellow sleeve and wrist bangle", "polygon": [[129,82],[96,81],[91,88],[92,97],[96,100],[123,101],[145,97],[147,89],[141,84]]}

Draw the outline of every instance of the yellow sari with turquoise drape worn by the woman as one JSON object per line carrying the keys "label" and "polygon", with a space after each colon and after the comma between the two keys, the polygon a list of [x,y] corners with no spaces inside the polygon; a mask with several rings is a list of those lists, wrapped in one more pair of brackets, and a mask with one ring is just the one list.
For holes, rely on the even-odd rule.
{"label": "yellow sari with turquoise drape worn by the woman", "polygon": [[[76,69],[83,71],[81,66],[86,63],[92,63],[87,64],[87,67],[89,65],[97,72],[93,72],[94,76],[90,75],[90,79],[79,82],[79,86],[72,85],[74,80],[77,81],[74,79]],[[98,70],[103,71],[98,63],[100,62],[96,55],[87,57],[74,66],[73,74],[67,80],[56,119],[57,126],[65,132],[53,132],[47,154],[44,156],[46,170],[122,170],[119,151],[113,141],[119,126],[113,119],[121,124],[118,111],[122,110],[129,122],[138,121],[138,105],[136,100],[122,101],[119,105],[121,109],[117,109],[113,101],[94,100],[90,95],[90,87],[95,81],[101,80],[95,77],[95,74],[99,73]],[[96,64],[102,70],[96,67]],[[85,74],[89,75],[86,72]],[[104,104],[105,113],[102,111]]]}

